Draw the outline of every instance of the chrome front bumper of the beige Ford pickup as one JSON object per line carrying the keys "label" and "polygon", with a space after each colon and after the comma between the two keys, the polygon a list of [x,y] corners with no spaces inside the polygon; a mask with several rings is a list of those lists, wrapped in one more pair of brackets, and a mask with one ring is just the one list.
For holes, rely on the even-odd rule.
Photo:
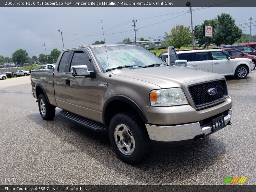
{"label": "chrome front bumper of the beige Ford pickup", "polygon": [[[232,108],[228,110],[228,115],[224,117],[224,125],[230,122],[232,116]],[[207,135],[211,133],[212,126],[201,128],[200,123],[190,123],[171,126],[158,126],[146,124],[148,135],[151,140],[172,142],[194,139],[198,135]]]}

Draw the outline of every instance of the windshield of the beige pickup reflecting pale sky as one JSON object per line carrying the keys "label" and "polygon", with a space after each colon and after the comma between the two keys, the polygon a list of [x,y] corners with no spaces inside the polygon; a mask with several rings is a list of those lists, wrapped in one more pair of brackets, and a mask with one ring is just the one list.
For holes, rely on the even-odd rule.
{"label": "windshield of the beige pickup reflecting pale sky", "polygon": [[[107,48],[107,53],[106,53]],[[141,67],[151,66],[166,66],[167,64],[157,57],[155,54],[139,46],[102,46],[92,48],[92,52],[99,63],[103,72],[108,69],[117,68],[120,66],[132,66],[137,69]],[[108,54],[108,59],[107,59]],[[109,66],[108,66],[109,65]],[[123,69],[131,69],[123,68]]]}

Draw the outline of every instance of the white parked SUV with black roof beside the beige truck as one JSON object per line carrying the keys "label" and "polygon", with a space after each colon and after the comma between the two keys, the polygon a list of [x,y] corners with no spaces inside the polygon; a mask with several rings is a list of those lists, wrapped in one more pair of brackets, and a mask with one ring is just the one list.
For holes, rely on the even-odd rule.
{"label": "white parked SUV with black roof beside the beige truck", "polygon": [[251,59],[232,58],[227,53],[217,50],[194,50],[177,52],[180,60],[187,60],[187,67],[204,69],[224,76],[245,78],[253,70]]}

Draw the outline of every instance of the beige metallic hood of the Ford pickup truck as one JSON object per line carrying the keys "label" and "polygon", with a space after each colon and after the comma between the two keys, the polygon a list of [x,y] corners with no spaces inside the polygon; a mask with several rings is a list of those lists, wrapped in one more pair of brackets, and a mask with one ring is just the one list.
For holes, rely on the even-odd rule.
{"label": "beige metallic hood of the Ford pickup truck", "polygon": [[[113,74],[118,76],[138,79],[151,84],[155,84],[162,89],[181,87],[188,82],[204,82],[212,79],[225,79],[223,75],[205,70],[180,67],[150,67],[141,69],[113,70]],[[194,84],[194,83],[191,83]]]}

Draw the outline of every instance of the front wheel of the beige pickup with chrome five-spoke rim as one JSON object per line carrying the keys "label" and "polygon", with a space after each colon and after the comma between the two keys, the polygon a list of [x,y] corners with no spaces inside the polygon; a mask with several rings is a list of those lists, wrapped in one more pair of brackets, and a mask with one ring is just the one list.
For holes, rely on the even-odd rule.
{"label": "front wheel of the beige pickup with chrome five-spoke rim", "polygon": [[115,115],[109,125],[111,145],[123,162],[138,164],[151,151],[148,133],[140,119],[129,113]]}

